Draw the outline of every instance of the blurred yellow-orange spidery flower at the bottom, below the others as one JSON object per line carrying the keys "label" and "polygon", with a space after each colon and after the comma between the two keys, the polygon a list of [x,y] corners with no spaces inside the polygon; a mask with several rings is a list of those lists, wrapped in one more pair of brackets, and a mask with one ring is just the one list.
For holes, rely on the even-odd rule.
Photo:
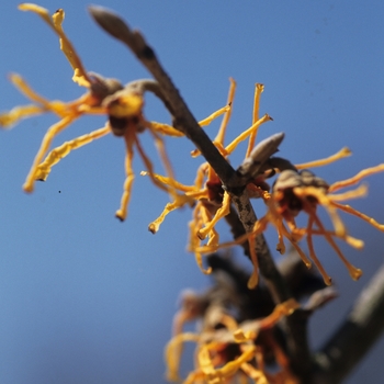
{"label": "blurred yellow-orange spidery flower at the bottom, below the others", "polygon": [[[223,313],[219,308],[211,308],[216,313],[213,324],[206,324],[200,334],[180,334],[172,338],[166,350],[166,360],[169,366],[167,379],[171,382],[179,382],[178,366],[180,359],[181,343],[195,341],[196,368],[192,371],[184,384],[192,384],[204,380],[208,384],[229,382],[236,374],[250,377],[255,383],[298,383],[290,372],[289,361],[279,343],[268,331],[283,317],[292,314],[298,304],[290,300],[279,304],[267,317],[259,320],[251,320],[237,324],[229,314]],[[216,329],[217,326],[223,328]],[[256,343],[260,334],[266,339],[264,348],[269,348],[273,358],[280,366],[278,373],[266,372],[263,347]],[[268,335],[268,336],[267,336]]]}

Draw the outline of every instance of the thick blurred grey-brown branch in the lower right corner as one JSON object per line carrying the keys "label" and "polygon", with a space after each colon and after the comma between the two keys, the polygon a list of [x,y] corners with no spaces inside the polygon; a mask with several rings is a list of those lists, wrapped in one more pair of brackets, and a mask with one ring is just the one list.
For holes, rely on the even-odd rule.
{"label": "thick blurred grey-brown branch in the lower right corner", "polygon": [[315,384],[338,384],[384,330],[384,266],[355,301],[346,320],[316,354]]}

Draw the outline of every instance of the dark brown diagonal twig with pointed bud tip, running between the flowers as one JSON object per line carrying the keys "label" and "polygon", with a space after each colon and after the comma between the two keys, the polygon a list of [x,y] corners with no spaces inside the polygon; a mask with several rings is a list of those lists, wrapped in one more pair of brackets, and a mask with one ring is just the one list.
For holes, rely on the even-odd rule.
{"label": "dark brown diagonal twig with pointed bud tip, running between the flowers", "polygon": [[[247,233],[251,231],[257,217],[245,190],[246,182],[240,173],[236,172],[228,161],[219,154],[212,140],[200,127],[196,120],[188,109],[178,89],[173,86],[167,72],[156,58],[154,49],[148,46],[144,36],[138,31],[131,31],[125,22],[116,14],[101,7],[90,7],[89,11],[97,23],[113,37],[127,45],[142,64],[151,72],[160,84],[174,117],[173,125],[190,138],[206,161],[215,170],[222,180],[224,188],[230,193],[233,202],[238,211],[240,222]],[[276,304],[283,303],[292,295],[279,273],[266,239],[262,235],[257,238],[257,255],[260,272],[266,279]],[[293,320],[301,316],[297,310],[285,324],[287,330],[287,343],[290,348],[291,362],[296,374],[306,380],[309,366],[309,353],[306,342],[306,329],[303,321]],[[305,327],[306,328],[306,321]],[[304,372],[304,374],[302,374]],[[303,382],[304,382],[303,380]]]}

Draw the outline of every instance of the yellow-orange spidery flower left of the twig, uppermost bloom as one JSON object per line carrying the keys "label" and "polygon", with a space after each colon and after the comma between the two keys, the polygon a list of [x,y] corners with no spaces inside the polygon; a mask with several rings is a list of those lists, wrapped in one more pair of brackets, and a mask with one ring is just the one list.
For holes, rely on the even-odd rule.
{"label": "yellow-orange spidery flower left of the twig, uppermost bloom", "polygon": [[[144,131],[148,131],[151,134],[167,172],[167,177],[170,180],[173,180],[173,172],[165,149],[162,136],[180,137],[183,136],[183,134],[170,125],[149,122],[143,114],[144,94],[147,91],[153,92],[162,102],[167,103],[159,84],[154,80],[136,80],[123,86],[116,79],[106,79],[100,75],[87,72],[72,44],[64,33],[61,24],[65,13],[63,9],[57,10],[52,18],[46,9],[36,4],[23,3],[19,5],[19,9],[23,11],[32,11],[38,14],[59,36],[60,48],[74,69],[72,80],[87,89],[87,92],[75,101],[49,101],[33,91],[19,75],[10,76],[10,80],[13,84],[27,99],[33,101],[33,104],[16,106],[9,112],[1,113],[1,127],[10,127],[21,118],[47,112],[52,112],[59,117],[59,121],[48,128],[43,138],[30,173],[23,185],[24,191],[33,192],[35,180],[45,181],[52,167],[66,157],[71,150],[78,149],[94,139],[112,133],[115,136],[123,137],[126,143],[126,179],[124,182],[121,206],[116,211],[117,218],[124,221],[127,215],[132,184],[135,178],[132,168],[135,149],[140,156],[154,184],[168,192],[171,199],[182,199],[182,196],[179,197],[176,189],[172,187],[172,182],[169,183],[170,187],[168,187],[154,177],[153,163],[146,155],[138,137],[138,134]],[[208,124],[213,118],[225,113],[227,110],[228,106],[218,110],[212,116],[204,120],[202,125]],[[54,138],[60,132],[72,124],[77,118],[90,114],[105,115],[108,117],[105,125],[89,134],[66,142],[48,153]]]}

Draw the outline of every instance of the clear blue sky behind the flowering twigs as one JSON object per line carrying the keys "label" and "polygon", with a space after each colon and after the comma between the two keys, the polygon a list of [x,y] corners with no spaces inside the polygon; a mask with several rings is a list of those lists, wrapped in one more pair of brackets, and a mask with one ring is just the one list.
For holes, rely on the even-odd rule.
{"label": "clear blue sky behind the flowering twigs", "polygon": [[[8,81],[21,74],[49,99],[74,100],[83,89],[58,39],[20,1],[0,4],[0,110],[27,103]],[[83,1],[41,1],[66,11],[65,31],[88,70],[123,82],[149,75],[118,42],[87,14]],[[259,139],[285,132],[282,157],[304,162],[343,146],[353,156],[317,170],[330,183],[383,162],[384,4],[361,1],[123,1],[108,5],[139,27],[197,118],[225,104],[228,78],[237,95],[227,140],[251,123],[255,82],[266,86],[260,113],[274,121]],[[148,120],[169,122],[161,103],[147,98]],[[114,218],[124,182],[124,143],[104,137],[72,153],[46,183],[26,195],[21,185],[47,127],[46,115],[23,121],[0,138],[0,381],[2,383],[161,383],[162,349],[181,290],[204,290],[192,255],[185,252],[185,208],[168,216],[153,236],[147,225],[168,196],[139,177],[128,218]],[[99,128],[103,117],[83,117],[55,144]],[[207,127],[212,137],[219,122]],[[143,135],[156,170],[162,171],[150,137]],[[202,159],[191,159],[187,139],[167,148],[179,180],[191,183]],[[236,166],[245,147],[231,157]],[[384,223],[384,174],[368,179],[368,199],[353,206]],[[262,205],[256,204],[262,214]],[[310,324],[313,345],[327,338],[383,262],[384,234],[346,218],[351,235],[365,240],[363,251],[342,249],[364,271],[349,279],[321,240],[317,253],[340,297]],[[229,239],[225,226],[222,238]],[[273,230],[267,236],[273,249]],[[348,383],[377,383],[383,376],[383,339],[355,369]]]}

